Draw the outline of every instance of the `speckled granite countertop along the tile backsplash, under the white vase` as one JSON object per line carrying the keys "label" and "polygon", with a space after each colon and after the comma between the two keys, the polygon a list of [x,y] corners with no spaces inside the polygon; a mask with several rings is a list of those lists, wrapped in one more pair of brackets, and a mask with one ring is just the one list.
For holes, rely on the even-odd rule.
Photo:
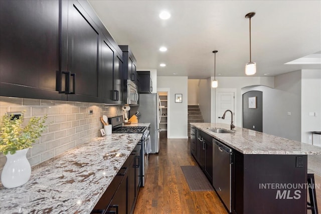
{"label": "speckled granite countertop along the tile backsplash, under the white vase", "polygon": [[97,137],[34,166],[26,184],[0,187],[0,212],[90,213],[141,136]]}

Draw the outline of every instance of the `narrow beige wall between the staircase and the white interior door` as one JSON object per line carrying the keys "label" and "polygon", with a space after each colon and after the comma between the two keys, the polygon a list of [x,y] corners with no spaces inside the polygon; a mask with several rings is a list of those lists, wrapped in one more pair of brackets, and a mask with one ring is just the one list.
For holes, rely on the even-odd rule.
{"label": "narrow beige wall between the staircase and the white interior door", "polygon": [[199,104],[205,123],[211,122],[211,78],[200,80]]}

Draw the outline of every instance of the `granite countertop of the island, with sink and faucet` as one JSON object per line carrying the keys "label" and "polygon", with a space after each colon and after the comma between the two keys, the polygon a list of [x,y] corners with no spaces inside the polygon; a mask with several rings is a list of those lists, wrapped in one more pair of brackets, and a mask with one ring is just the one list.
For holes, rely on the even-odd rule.
{"label": "granite countertop of the island, with sink and faucet", "polygon": [[321,154],[321,148],[250,129],[235,127],[235,133],[214,133],[209,128],[230,129],[224,123],[191,123],[243,154]]}

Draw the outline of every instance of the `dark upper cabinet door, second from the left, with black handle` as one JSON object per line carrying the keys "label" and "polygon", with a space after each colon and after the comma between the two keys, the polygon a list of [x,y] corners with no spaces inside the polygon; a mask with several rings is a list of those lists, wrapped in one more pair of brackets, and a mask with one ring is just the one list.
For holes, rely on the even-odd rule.
{"label": "dark upper cabinet door, second from the left, with black handle", "polygon": [[63,70],[74,74],[68,100],[99,102],[100,30],[77,1],[68,1],[67,29],[68,48],[67,53],[63,52]]}

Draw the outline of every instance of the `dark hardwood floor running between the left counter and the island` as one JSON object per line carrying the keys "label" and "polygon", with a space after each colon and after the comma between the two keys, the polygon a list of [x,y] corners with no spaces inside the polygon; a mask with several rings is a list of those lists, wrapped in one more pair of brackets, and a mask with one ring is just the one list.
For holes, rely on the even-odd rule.
{"label": "dark hardwood floor running between the left counter and the island", "polygon": [[140,188],[134,213],[215,213],[227,211],[215,191],[191,191],[181,166],[196,165],[188,139],[161,135],[158,154],[149,155],[145,186]]}

